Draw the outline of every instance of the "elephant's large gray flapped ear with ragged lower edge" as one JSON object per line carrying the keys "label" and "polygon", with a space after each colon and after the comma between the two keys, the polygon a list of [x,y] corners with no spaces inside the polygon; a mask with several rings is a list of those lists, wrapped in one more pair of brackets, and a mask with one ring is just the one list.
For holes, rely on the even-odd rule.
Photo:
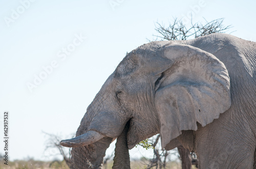
{"label": "elephant's large gray flapped ear with ragged lower edge", "polygon": [[182,130],[197,130],[197,122],[205,126],[218,119],[231,99],[227,69],[214,55],[174,43],[164,46],[161,55],[171,63],[157,80],[155,94],[165,148]]}

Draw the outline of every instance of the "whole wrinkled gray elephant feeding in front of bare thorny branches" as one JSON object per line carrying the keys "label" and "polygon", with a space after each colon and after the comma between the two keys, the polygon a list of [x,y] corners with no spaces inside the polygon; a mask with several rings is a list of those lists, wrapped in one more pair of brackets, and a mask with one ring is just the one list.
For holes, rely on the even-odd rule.
{"label": "whole wrinkled gray elephant feeding in front of bare thorny branches", "polygon": [[73,168],[100,168],[129,120],[129,149],[160,133],[162,148],[195,151],[199,168],[256,168],[255,56],[255,42],[226,34],[133,50],[88,107],[81,136],[61,141],[75,147]]}

